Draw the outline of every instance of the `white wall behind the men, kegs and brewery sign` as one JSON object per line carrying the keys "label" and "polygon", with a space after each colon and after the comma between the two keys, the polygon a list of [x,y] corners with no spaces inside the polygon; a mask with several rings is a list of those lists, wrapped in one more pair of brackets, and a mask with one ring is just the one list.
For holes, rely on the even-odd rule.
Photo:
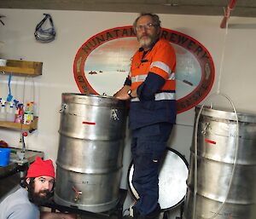
{"label": "white wall behind the men, kegs and brewery sign", "polygon": [[[38,43],[33,32],[43,13],[52,15],[57,37],[52,43]],[[35,101],[38,103],[38,130],[26,138],[27,148],[44,151],[45,158],[56,159],[58,128],[60,123],[61,93],[79,93],[73,78],[73,61],[80,46],[90,37],[109,28],[131,25],[137,14],[44,11],[22,9],[0,9],[5,26],[0,24],[0,57],[26,61],[42,61],[43,75],[34,78]],[[216,78],[212,93],[218,90],[221,57],[224,62],[219,91],[229,95],[241,112],[256,114],[255,104],[255,51],[256,19],[231,17],[233,28],[226,31],[219,28],[222,17],[160,14],[162,26],[183,32],[202,43],[212,55]],[[236,25],[236,26],[234,26]],[[236,27],[236,28],[235,28]],[[224,37],[226,41],[224,43]],[[224,49],[224,50],[223,50]],[[0,75],[0,96],[8,93],[8,77]],[[23,94],[24,78],[13,77],[14,95]],[[32,98],[32,80],[26,81],[26,97]],[[22,95],[21,95],[22,96]],[[230,106],[217,98],[214,105]],[[194,110],[178,115],[177,125],[172,133],[170,146],[183,153],[189,160],[192,141]],[[0,139],[18,146],[20,134],[13,130],[0,130]],[[129,140],[127,140],[129,142]],[[125,168],[130,163],[129,144],[125,146]],[[122,187],[125,187],[123,174]]]}

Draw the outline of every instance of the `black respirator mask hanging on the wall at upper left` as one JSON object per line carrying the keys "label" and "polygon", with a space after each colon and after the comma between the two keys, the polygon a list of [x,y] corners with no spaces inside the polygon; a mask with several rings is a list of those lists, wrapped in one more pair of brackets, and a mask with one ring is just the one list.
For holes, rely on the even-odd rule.
{"label": "black respirator mask hanging on the wall at upper left", "polygon": [[[49,14],[44,14],[44,19],[41,20],[38,25],[36,26],[36,31],[34,35],[36,40],[41,43],[49,43],[55,40],[56,32],[55,26],[53,24],[53,20]],[[49,27],[46,27],[46,21],[49,19]],[[44,29],[43,29],[44,26]]]}

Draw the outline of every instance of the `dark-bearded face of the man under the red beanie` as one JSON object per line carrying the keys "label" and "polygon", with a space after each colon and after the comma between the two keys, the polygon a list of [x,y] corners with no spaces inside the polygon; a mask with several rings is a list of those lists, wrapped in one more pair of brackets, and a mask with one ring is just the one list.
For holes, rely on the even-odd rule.
{"label": "dark-bearded face of the man under the red beanie", "polygon": [[28,197],[32,203],[42,205],[49,200],[54,186],[53,177],[39,176],[33,182],[27,178],[26,183],[28,184]]}

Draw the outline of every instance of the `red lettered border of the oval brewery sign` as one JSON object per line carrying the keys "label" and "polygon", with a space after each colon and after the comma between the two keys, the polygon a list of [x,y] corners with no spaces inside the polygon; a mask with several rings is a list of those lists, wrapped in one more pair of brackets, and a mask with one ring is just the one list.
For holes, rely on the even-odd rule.
{"label": "red lettered border of the oval brewery sign", "polygon": [[[90,39],[79,48],[73,63],[73,75],[82,94],[98,95],[85,77],[84,63],[87,57],[94,49],[103,43],[121,37],[136,37],[132,26],[115,27],[97,33],[95,36],[90,37]],[[161,37],[166,38],[170,43],[175,43],[183,47],[183,49],[188,50],[195,56],[201,66],[201,82],[192,92],[177,100],[177,113],[185,112],[198,105],[212,89],[212,84],[215,78],[212,56],[201,43],[195,40],[195,38],[189,37],[182,32],[162,28]]]}

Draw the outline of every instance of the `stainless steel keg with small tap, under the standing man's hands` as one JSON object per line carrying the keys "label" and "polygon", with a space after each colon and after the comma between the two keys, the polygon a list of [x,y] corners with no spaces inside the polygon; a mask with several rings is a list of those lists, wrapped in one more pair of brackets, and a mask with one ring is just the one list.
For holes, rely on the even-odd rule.
{"label": "stainless steel keg with small tap, under the standing man's hands", "polygon": [[125,101],[62,94],[55,202],[102,212],[118,202]]}

